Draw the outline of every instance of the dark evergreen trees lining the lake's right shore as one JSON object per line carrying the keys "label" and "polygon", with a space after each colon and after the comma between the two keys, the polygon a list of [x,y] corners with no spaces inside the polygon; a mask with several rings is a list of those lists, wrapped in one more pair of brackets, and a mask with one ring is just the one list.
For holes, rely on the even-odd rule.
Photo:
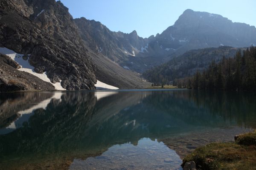
{"label": "dark evergreen trees lining the lake's right shore", "polygon": [[190,89],[256,91],[256,47],[239,50],[234,58],[212,61],[207,70],[175,80],[175,84]]}

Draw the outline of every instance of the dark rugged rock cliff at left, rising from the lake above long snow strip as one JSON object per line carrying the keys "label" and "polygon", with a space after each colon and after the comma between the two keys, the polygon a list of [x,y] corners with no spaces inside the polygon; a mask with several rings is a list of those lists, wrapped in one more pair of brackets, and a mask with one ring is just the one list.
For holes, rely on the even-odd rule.
{"label": "dark rugged rock cliff at left, rising from the lake above long snow strip", "polygon": [[55,0],[1,0],[0,46],[31,54],[37,73],[67,90],[94,89],[96,77],[68,9]]}

